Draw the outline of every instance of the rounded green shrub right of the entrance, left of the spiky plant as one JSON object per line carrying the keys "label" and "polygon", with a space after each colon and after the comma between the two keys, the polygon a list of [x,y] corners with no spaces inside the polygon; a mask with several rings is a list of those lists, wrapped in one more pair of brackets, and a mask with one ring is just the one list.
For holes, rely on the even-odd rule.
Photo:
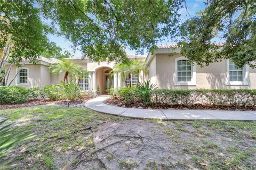
{"label": "rounded green shrub right of the entrance, left of the spiky plant", "polygon": [[134,103],[137,97],[137,88],[135,86],[132,87],[124,87],[118,90],[118,95],[126,102]]}

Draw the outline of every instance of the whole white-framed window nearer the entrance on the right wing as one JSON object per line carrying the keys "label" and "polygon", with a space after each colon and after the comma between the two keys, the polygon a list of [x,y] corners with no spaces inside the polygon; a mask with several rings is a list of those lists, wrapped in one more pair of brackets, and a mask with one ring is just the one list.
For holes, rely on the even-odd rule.
{"label": "whole white-framed window nearer the entrance on the right wing", "polygon": [[174,59],[175,86],[196,85],[196,65],[190,64],[185,57]]}

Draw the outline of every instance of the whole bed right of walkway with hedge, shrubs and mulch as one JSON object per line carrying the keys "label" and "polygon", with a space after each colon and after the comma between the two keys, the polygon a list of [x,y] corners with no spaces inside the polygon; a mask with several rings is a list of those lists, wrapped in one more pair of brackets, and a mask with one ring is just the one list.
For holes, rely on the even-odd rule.
{"label": "whole bed right of walkway with hedge, shrubs and mulch", "polygon": [[110,92],[111,99],[105,103],[133,108],[256,110],[256,90],[167,90],[148,85],[147,88],[140,87],[145,84],[113,89]]}

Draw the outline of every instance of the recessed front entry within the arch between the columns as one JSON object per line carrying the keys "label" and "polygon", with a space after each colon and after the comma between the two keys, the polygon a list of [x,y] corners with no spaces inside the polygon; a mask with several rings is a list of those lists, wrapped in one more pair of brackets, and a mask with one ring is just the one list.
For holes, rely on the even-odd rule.
{"label": "recessed front entry within the arch between the columns", "polygon": [[99,89],[99,95],[107,94],[108,89],[114,87],[114,76],[111,76],[110,67],[99,67],[95,70],[96,89]]}

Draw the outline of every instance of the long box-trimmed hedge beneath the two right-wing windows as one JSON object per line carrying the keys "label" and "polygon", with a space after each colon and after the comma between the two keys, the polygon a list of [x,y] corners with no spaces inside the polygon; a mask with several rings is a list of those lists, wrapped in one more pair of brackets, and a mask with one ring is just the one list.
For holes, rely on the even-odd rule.
{"label": "long box-trimmed hedge beneath the two right-wing windows", "polygon": [[256,90],[247,89],[223,89],[223,90],[154,90],[152,95],[154,103],[166,105],[193,105],[203,103],[207,105],[256,105]]}

